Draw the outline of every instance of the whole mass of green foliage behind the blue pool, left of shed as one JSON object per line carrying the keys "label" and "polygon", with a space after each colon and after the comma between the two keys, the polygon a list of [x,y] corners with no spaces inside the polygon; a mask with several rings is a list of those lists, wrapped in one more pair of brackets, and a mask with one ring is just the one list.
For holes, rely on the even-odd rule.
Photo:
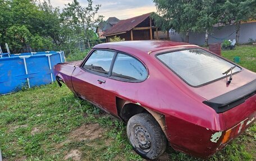
{"label": "whole mass of green foliage behind the blue pool, left of shed", "polygon": [[[82,7],[74,0],[63,12],[50,1],[0,0],[0,42],[8,43],[11,53],[34,49],[75,48],[77,42],[98,39],[94,28],[103,16],[96,16],[100,5]],[[87,43],[87,42],[86,42]]]}

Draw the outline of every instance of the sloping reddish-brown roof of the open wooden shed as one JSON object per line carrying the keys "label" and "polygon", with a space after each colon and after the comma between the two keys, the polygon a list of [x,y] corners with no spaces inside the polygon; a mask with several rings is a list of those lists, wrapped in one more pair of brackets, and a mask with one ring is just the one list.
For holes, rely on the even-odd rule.
{"label": "sloping reddish-brown roof of the open wooden shed", "polygon": [[115,26],[113,26],[111,29],[106,31],[103,36],[113,35],[113,34],[120,34],[125,33],[127,31],[130,31],[132,28],[139,25],[141,22],[143,22],[145,19],[147,19],[153,12],[146,13],[141,16],[132,17],[130,19],[121,20],[119,21]]}

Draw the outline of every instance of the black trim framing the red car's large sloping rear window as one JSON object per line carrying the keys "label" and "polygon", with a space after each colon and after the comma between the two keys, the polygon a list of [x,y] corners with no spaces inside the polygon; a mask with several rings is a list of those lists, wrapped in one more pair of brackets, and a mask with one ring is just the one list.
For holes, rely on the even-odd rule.
{"label": "black trim framing the red car's large sloping rear window", "polygon": [[[161,62],[164,66],[166,66],[169,70],[171,70],[173,73],[175,73],[175,75],[177,75],[182,81],[184,81],[186,84],[188,84],[189,86],[191,86],[191,87],[193,87],[193,88],[199,88],[199,87],[202,87],[202,86],[204,86],[204,85],[211,84],[212,82],[215,82],[215,81],[218,81],[218,80],[221,80],[221,79],[224,79],[224,78],[230,76],[230,74],[229,74],[229,75],[225,75],[225,76],[222,76],[222,77],[220,77],[220,78],[218,78],[218,79],[215,79],[215,80],[212,80],[212,81],[209,81],[209,82],[205,82],[204,84],[200,84],[200,85],[194,86],[194,85],[189,84],[188,81],[186,81],[185,79],[183,79],[177,72],[173,71],[172,68],[170,68],[168,65],[166,65],[166,63],[164,63],[163,61],[161,61],[161,59],[159,59],[159,58],[157,57],[157,56],[159,56],[159,55],[161,55],[161,54],[172,53],[172,52],[179,52],[179,51],[182,51],[182,50],[190,50],[190,49],[202,49],[202,50],[204,50],[205,52],[214,54],[213,52],[208,51],[208,50],[205,50],[204,48],[186,48],[186,49],[169,50],[169,51],[166,51],[166,52],[157,53],[157,54],[155,54],[154,57],[156,57],[156,58],[158,59],[158,61],[160,61],[160,62]],[[228,60],[228,59],[222,58],[221,56],[218,56],[217,54],[214,54],[214,56],[220,57],[221,59],[223,59],[223,60],[225,60],[225,61],[231,63],[232,65],[237,66],[237,67],[239,67],[239,68],[241,69],[241,70],[239,70],[239,71],[237,71],[237,72],[232,73],[232,75],[235,75],[236,73],[239,73],[239,72],[243,71],[243,68],[240,67],[239,65],[236,65],[234,62],[231,62],[231,61]]]}

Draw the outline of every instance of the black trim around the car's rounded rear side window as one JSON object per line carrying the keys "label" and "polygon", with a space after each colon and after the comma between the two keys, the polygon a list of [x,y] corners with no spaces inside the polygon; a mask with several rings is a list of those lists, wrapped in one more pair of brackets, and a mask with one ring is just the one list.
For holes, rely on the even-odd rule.
{"label": "black trim around the car's rounded rear side window", "polygon": [[[113,67],[114,67],[114,65],[115,65],[116,58],[117,58],[117,55],[118,55],[118,54],[124,54],[124,55],[129,56],[129,57],[132,57],[132,58],[136,59],[138,62],[140,62],[141,65],[143,65],[143,67],[144,67],[145,70],[147,71],[147,77],[146,77],[144,80],[141,81],[141,80],[128,80],[128,79],[125,79],[125,78],[122,78],[122,77],[112,76]],[[110,78],[110,79],[117,80],[117,81],[132,82],[132,83],[134,83],[134,82],[144,82],[145,80],[148,79],[148,76],[149,76],[148,68],[147,68],[147,66],[145,66],[145,64],[144,64],[142,61],[140,61],[139,58],[137,58],[137,57],[135,57],[135,56],[132,56],[132,55],[129,54],[129,53],[121,52],[121,51],[118,51],[118,50],[116,51],[115,61],[113,61],[113,66],[112,66],[112,68],[111,68],[110,75],[109,75],[109,78]],[[118,78],[118,79],[116,79],[115,77]]]}

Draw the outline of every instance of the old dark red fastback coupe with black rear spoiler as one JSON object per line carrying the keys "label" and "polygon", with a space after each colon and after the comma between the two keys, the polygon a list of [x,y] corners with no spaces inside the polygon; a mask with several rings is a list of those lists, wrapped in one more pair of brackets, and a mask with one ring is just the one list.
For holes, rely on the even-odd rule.
{"label": "old dark red fastback coupe with black rear spoiler", "polygon": [[209,157],[256,117],[256,73],[187,43],[99,44],[54,73],[76,96],[127,122],[131,145],[147,159],[159,157],[167,140]]}

